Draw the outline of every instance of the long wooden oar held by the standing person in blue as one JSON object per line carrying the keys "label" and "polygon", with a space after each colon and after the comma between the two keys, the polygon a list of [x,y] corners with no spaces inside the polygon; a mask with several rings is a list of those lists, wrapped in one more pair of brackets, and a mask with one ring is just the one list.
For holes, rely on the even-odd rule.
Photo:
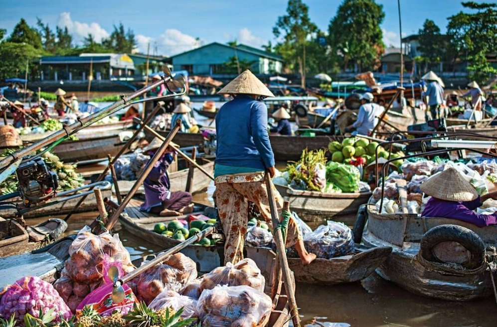
{"label": "long wooden oar held by the standing person in blue", "polygon": [[276,210],[276,199],[273,193],[273,182],[268,173],[265,176],[266,188],[268,190],[269,198],[269,208],[271,210],[271,220],[273,221],[273,233],[274,241],[276,243],[276,249],[278,252],[278,258],[280,260],[280,265],[283,273],[283,281],[285,282],[285,290],[287,291],[287,297],[290,307],[290,314],[292,315],[292,321],[295,327],[300,327],[300,317],[299,309],[297,307],[297,301],[295,300],[295,287],[292,279],[292,272],[288,266],[287,253],[285,251],[285,243],[283,241],[283,235],[281,229],[278,228],[280,224],[280,219],[278,219],[278,212]]}

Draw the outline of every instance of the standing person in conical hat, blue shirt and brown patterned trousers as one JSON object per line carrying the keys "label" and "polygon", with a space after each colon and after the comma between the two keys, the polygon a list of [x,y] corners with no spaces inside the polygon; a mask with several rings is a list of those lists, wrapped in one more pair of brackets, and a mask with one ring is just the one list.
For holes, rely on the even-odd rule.
{"label": "standing person in conical hat, blue shirt and brown patterned trousers", "polygon": [[[274,95],[249,70],[228,83],[219,94],[233,97],[216,115],[214,184],[216,204],[226,236],[224,262],[234,263],[243,259],[249,202],[259,209],[268,225],[273,226],[264,175],[267,172],[274,177],[276,168],[269,142],[268,108],[262,99]],[[283,198],[276,189],[274,194],[281,217]],[[295,245],[303,264],[316,258],[305,249],[293,217],[289,220],[286,235],[286,246]]]}

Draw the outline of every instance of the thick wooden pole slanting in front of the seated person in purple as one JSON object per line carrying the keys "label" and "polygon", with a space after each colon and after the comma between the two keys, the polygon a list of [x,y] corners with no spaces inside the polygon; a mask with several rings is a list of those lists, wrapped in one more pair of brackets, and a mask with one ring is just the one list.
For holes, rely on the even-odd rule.
{"label": "thick wooden pole slanting in front of the seated person in purple", "polygon": [[181,128],[181,119],[176,119],[176,125],[171,129],[169,135],[167,135],[166,139],[164,140],[164,143],[162,143],[161,147],[157,150],[157,152],[154,154],[152,159],[150,159],[150,161],[147,163],[147,166],[145,166],[143,173],[138,177],[137,181],[131,188],[130,192],[128,192],[123,202],[119,205],[119,208],[114,212],[114,214],[112,214],[112,217],[109,219],[109,222],[107,223],[106,226],[107,230],[111,230],[112,227],[114,227],[114,225],[117,222],[117,219],[123,213],[124,208],[126,208],[126,206],[131,201],[133,196],[135,196],[136,191],[138,191],[138,188],[143,184],[145,179],[149,176],[149,173],[154,168],[154,165],[159,161],[162,154],[169,146],[169,142],[176,135],[176,133],[180,128]]}

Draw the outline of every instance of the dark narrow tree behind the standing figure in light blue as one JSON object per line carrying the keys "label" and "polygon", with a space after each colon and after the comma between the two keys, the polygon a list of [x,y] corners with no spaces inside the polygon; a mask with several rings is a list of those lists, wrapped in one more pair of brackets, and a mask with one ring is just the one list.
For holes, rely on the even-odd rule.
{"label": "dark narrow tree behind the standing figure in light blue", "polygon": [[428,71],[429,64],[439,63],[442,60],[444,39],[440,34],[440,28],[430,19],[425,20],[418,35],[419,51],[423,54],[420,59],[425,63],[425,71]]}

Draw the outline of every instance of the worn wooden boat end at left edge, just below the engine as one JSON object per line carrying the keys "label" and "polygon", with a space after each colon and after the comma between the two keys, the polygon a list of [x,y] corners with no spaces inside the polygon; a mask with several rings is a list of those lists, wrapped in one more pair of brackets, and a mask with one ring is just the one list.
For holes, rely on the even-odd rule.
{"label": "worn wooden boat end at left edge, just below the engine", "polygon": [[0,257],[45,246],[57,240],[66,228],[67,223],[62,219],[48,219],[24,228],[16,221],[0,218]]}

